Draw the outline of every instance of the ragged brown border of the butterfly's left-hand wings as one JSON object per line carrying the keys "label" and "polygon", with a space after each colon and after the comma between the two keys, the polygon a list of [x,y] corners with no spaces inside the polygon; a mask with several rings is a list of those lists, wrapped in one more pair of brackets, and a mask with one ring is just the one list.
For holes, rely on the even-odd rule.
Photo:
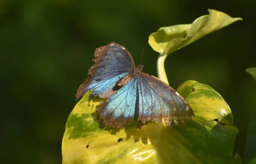
{"label": "ragged brown border of the butterfly's left-hand wings", "polygon": [[[93,75],[92,75],[92,69],[95,67],[95,64],[97,62],[97,60],[100,59],[100,57],[102,57],[102,55],[104,55],[104,52],[111,46],[111,45],[118,45],[120,46],[121,48],[123,48],[123,50],[125,50],[125,52],[127,52],[127,54],[131,57],[131,61],[133,62],[133,66],[135,67],[135,64],[134,64],[134,61],[133,61],[133,57],[131,56],[131,53],[123,46],[123,45],[120,45],[118,43],[115,43],[115,42],[110,42],[108,45],[105,45],[105,46],[102,46],[102,47],[97,47],[95,49],[95,52],[94,52],[94,59],[92,59],[93,62],[95,62],[92,67],[89,69],[88,73],[87,73],[87,78],[85,79],[85,81],[80,84],[79,88],[77,89],[77,94],[76,94],[76,100],[79,99],[80,97],[84,96],[84,94],[86,92],[88,92],[88,90],[86,89],[86,87],[90,84],[91,82],[91,78]],[[109,94],[107,94],[109,96]],[[106,98],[106,97],[101,97],[101,98]]]}

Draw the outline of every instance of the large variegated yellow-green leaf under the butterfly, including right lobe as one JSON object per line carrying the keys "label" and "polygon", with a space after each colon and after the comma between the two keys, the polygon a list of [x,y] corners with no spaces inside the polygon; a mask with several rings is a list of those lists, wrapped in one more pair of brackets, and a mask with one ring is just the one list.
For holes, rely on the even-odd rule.
{"label": "large variegated yellow-green leaf under the butterfly, including right lobe", "polygon": [[[181,84],[178,92],[191,104],[195,117],[186,125],[149,122],[140,130],[135,124],[124,129],[104,127],[95,113],[99,102],[93,103],[88,92],[67,120],[63,164],[232,164],[238,130],[221,123],[233,124],[225,100],[211,87],[192,80]],[[220,122],[212,121],[215,118]]]}

